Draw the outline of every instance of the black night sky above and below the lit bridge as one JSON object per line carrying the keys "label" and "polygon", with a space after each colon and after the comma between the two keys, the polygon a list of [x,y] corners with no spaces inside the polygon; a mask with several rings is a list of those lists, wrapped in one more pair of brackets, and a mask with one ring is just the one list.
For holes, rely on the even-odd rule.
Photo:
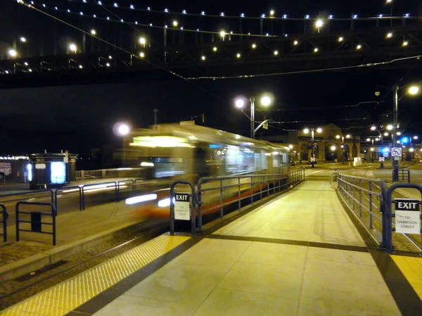
{"label": "black night sky above and below the lit bridge", "polygon": [[[47,3],[48,1],[46,1]],[[69,4],[68,1],[53,1]],[[106,1],[105,1],[106,2]],[[110,1],[107,1],[110,2]],[[168,7],[181,11],[206,11],[228,15],[245,12],[260,15],[274,8],[290,16],[302,17],[328,12],[335,16],[389,14],[385,1],[117,1],[135,6]],[[190,3],[189,3],[190,2]],[[51,3],[51,1],[50,1]],[[74,6],[70,3],[69,6]],[[410,12],[422,15],[422,1],[396,0],[397,15]],[[117,11],[116,11],[117,12]],[[79,22],[78,22],[79,21]],[[0,4],[0,50],[10,46],[13,38],[25,34],[31,42],[44,43],[32,50],[44,53],[60,52],[60,41],[69,35],[58,34],[56,48],[47,39],[53,39],[51,19],[18,6],[15,1],[2,0]],[[86,23],[74,19],[72,23]],[[90,22],[91,23],[91,22]],[[187,22],[186,22],[187,23]],[[89,25],[79,25],[89,27]],[[207,25],[208,27],[208,25]],[[208,28],[211,28],[208,27]],[[56,29],[56,33],[61,32]],[[64,30],[64,29],[63,29]],[[129,32],[129,31],[128,31]],[[63,31],[63,34],[64,31]],[[72,33],[73,34],[73,33]],[[75,35],[73,35],[75,36]],[[68,149],[75,153],[89,153],[92,148],[115,141],[113,125],[125,120],[134,127],[153,124],[153,108],[158,108],[158,122],[179,122],[193,115],[205,113],[205,126],[224,129],[248,136],[249,122],[233,106],[238,95],[255,95],[268,91],[274,94],[275,103],[265,114],[285,123],[274,125],[264,134],[283,134],[283,129],[316,127],[333,122],[366,137],[367,126],[392,121],[392,93],[382,91],[377,99],[373,91],[377,84],[391,87],[404,76],[401,84],[421,82],[422,71],[418,66],[402,69],[367,68],[344,72],[286,75],[256,79],[216,80],[196,82],[200,89],[189,82],[173,80],[142,80],[124,84],[87,84],[69,87],[39,87],[0,89],[0,153],[30,153]],[[206,90],[206,91],[205,91]],[[362,101],[383,101],[354,108]],[[405,132],[422,136],[422,96],[403,98],[399,104],[399,121]],[[314,108],[301,110],[301,108]],[[317,108],[317,109],[315,109]],[[321,109],[324,108],[324,109]],[[388,116],[387,116],[388,115]],[[257,114],[257,120],[263,115]],[[350,120],[366,118],[365,120]],[[347,119],[347,120],[346,120]],[[309,122],[309,121],[318,122]],[[300,121],[299,123],[291,123]],[[357,128],[356,128],[357,127]],[[364,129],[359,127],[365,127]],[[260,137],[260,134],[258,134]]]}

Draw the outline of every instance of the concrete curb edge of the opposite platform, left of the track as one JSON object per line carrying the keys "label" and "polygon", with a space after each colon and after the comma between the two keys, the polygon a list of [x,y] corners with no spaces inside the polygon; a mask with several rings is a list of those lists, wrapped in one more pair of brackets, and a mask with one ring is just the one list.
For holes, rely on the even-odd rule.
{"label": "concrete curb edge of the opposite platform, left of the track", "polygon": [[119,227],[108,229],[105,232],[88,236],[78,241],[72,241],[69,244],[58,246],[57,248],[43,251],[41,253],[31,255],[30,257],[15,261],[14,263],[4,265],[0,267],[0,282],[15,279],[16,277],[39,270],[46,265],[57,263],[68,255],[83,251],[103,241],[113,239],[114,234],[117,232],[124,232],[125,230],[129,231],[142,223],[144,222],[120,225]]}

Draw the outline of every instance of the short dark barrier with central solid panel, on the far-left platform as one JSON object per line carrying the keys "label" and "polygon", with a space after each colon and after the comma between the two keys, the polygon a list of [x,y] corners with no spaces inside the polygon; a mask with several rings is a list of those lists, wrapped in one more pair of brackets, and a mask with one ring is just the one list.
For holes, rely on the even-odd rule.
{"label": "short dark barrier with central solid panel, on the far-left platform", "polygon": [[[51,213],[42,212],[27,212],[19,210],[21,205],[28,206],[50,206]],[[31,215],[31,220],[21,220],[20,214]],[[51,222],[42,222],[42,216],[51,216]],[[56,206],[53,203],[41,203],[41,202],[25,202],[20,201],[16,203],[16,241],[20,241],[20,232],[34,232],[38,234],[49,234],[53,235],[53,246],[56,246]],[[20,223],[31,224],[31,229],[21,229]],[[46,232],[42,229],[42,225],[52,226],[52,232]]]}

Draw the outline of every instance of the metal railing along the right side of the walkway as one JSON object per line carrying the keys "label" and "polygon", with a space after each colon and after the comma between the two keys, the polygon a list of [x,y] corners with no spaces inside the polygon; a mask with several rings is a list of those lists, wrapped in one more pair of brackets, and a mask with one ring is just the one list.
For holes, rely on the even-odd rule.
{"label": "metal railing along the right side of the walkway", "polygon": [[385,182],[378,179],[338,174],[338,192],[354,216],[362,222],[376,243],[385,247]]}

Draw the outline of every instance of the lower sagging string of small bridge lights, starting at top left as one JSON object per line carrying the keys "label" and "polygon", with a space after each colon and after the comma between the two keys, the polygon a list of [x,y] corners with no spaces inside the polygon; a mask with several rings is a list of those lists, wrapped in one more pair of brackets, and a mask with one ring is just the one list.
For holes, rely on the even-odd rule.
{"label": "lower sagging string of small bridge lights, starting at top left", "polygon": [[[25,3],[25,1],[22,1],[21,3]],[[70,10],[70,8],[59,8],[58,6],[46,6],[46,4],[35,4],[34,1],[30,1],[30,7],[34,7],[34,8],[39,8],[39,9],[46,9],[46,10],[50,10],[50,11],[57,11],[60,13],[67,13],[70,15],[79,15],[81,17],[84,18],[91,18],[91,19],[96,19],[96,20],[104,20],[104,21],[108,21],[110,23],[120,23],[120,24],[126,24],[126,25],[137,25],[137,26],[143,26],[143,27],[151,27],[151,28],[156,28],[156,29],[167,29],[167,30],[174,30],[174,31],[179,31],[179,32],[194,32],[194,33],[203,33],[203,34],[215,34],[217,36],[220,37],[225,37],[225,36],[245,36],[246,33],[238,33],[238,32],[233,32],[233,31],[224,31],[224,30],[219,30],[219,31],[210,31],[210,30],[200,30],[199,28],[196,29],[191,29],[191,28],[186,28],[184,26],[179,26],[179,22],[177,22],[176,20],[174,20],[172,22],[172,24],[170,25],[153,25],[153,23],[141,23],[138,20],[133,20],[133,21],[129,21],[129,20],[124,20],[123,18],[120,18],[118,20],[110,18],[110,16],[102,16],[99,15],[97,13],[86,13],[84,11],[72,11]],[[103,6],[106,8],[106,6]],[[277,37],[277,35],[271,35],[269,33],[266,34],[253,34],[251,32],[248,32],[248,37]]]}

